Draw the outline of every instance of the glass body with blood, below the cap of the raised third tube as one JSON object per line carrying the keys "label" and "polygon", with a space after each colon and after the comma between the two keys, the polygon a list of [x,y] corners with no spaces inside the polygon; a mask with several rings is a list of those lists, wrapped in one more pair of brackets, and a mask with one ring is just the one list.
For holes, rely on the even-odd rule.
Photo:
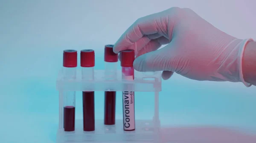
{"label": "glass body with blood, below the cap of the raised third tube", "polygon": [[[105,79],[116,80],[117,62],[105,62]],[[114,125],[116,121],[116,92],[105,91],[104,124]]]}

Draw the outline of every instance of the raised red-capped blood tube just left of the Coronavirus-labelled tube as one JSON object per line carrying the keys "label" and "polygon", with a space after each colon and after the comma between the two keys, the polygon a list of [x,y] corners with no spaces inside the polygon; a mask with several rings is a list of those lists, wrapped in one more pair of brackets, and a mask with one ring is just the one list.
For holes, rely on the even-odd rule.
{"label": "raised red-capped blood tube just left of the Coronavirus-labelled tube", "polygon": [[[116,79],[118,54],[113,52],[113,45],[105,45],[105,78]],[[114,125],[116,120],[116,91],[105,91],[104,124]]]}

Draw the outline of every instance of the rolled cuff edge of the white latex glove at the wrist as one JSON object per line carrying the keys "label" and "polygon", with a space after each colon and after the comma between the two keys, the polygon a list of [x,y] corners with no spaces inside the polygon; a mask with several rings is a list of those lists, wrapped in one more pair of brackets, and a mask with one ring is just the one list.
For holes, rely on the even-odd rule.
{"label": "rolled cuff edge of the white latex glove at the wrist", "polygon": [[244,81],[244,75],[243,75],[243,70],[242,70],[242,59],[243,59],[243,55],[244,55],[244,49],[245,49],[245,46],[247,45],[248,42],[250,41],[253,41],[252,38],[249,38],[249,39],[244,39],[241,41],[239,47],[241,48],[241,51],[240,51],[240,55],[239,55],[239,65],[238,65],[238,68],[239,68],[239,78],[241,80],[241,82],[246,86],[246,87],[250,87],[252,84],[249,84],[247,82]]}

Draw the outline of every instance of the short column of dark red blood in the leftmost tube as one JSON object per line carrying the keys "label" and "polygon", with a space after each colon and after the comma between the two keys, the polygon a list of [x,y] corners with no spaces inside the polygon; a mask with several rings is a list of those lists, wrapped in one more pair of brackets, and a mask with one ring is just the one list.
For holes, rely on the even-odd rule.
{"label": "short column of dark red blood in the leftmost tube", "polygon": [[64,131],[75,131],[75,107],[64,107]]}

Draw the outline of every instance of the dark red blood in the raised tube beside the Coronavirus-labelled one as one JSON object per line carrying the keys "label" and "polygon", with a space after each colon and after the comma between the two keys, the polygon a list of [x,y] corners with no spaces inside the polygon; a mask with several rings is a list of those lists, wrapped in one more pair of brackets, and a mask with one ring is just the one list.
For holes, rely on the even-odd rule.
{"label": "dark red blood in the raised tube beside the Coronavirus-labelled one", "polygon": [[116,92],[105,91],[104,124],[114,125],[116,120]]}

